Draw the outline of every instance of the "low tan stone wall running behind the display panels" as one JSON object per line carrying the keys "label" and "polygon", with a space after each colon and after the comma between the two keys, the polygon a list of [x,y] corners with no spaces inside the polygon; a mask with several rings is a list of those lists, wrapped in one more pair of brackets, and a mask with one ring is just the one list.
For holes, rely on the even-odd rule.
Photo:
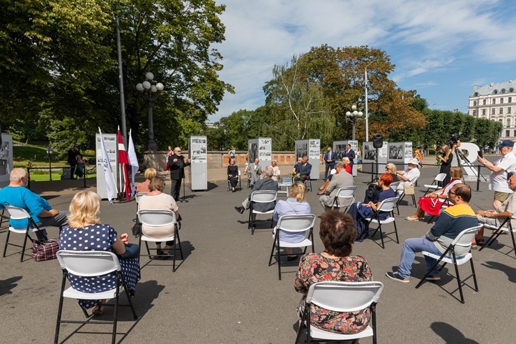
{"label": "low tan stone wall running behind the display panels", "polygon": [[[245,155],[247,151],[237,151],[235,154],[236,165],[238,167],[245,166]],[[165,158],[167,151],[146,151],[144,153],[144,161],[146,167],[153,167],[156,171],[165,171],[166,163]],[[188,153],[183,154],[185,158],[188,158]],[[208,151],[208,168],[223,168],[229,165],[229,154],[227,151]],[[273,151],[273,160],[278,161],[278,166],[293,166],[296,162],[294,152],[292,151]],[[322,154],[319,156],[319,163],[322,164]]]}

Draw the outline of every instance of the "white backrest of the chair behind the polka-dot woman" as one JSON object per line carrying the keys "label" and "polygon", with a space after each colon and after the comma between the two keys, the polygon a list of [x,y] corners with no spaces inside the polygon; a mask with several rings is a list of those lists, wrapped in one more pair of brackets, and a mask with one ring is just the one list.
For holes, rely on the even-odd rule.
{"label": "white backrest of the chair behind the polka-dot woman", "polygon": [[122,269],[119,258],[103,250],[58,250],[57,260],[61,269],[84,277],[102,276]]}

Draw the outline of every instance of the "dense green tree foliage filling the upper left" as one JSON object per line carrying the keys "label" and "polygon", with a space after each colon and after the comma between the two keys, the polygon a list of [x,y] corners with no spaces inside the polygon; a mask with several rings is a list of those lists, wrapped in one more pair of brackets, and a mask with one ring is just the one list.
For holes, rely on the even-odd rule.
{"label": "dense green tree foliage filling the upper left", "polygon": [[[0,68],[10,80],[0,86],[9,115],[4,126],[29,116],[42,122],[55,144],[74,130],[91,144],[98,126],[114,132],[121,124],[119,17],[133,138],[146,142],[147,106],[135,84],[152,71],[165,84],[154,107],[155,140],[165,147],[174,131],[181,133],[174,137],[177,144],[185,144],[188,134],[200,133],[225,92],[233,92],[219,79],[222,56],[211,48],[224,40],[224,9],[213,0],[0,0]],[[52,121],[61,121],[59,128]]]}

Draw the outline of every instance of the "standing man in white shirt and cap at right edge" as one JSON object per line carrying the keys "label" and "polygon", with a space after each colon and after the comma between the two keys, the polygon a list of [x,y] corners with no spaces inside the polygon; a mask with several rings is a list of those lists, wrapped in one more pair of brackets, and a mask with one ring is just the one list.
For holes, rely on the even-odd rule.
{"label": "standing man in white shirt and cap at right edge", "polygon": [[494,163],[486,158],[477,158],[478,162],[491,171],[489,176],[489,189],[494,190],[493,209],[498,209],[509,195],[513,193],[507,184],[507,173],[516,171],[516,156],[513,153],[514,141],[503,140],[496,146],[500,149],[501,158]]}

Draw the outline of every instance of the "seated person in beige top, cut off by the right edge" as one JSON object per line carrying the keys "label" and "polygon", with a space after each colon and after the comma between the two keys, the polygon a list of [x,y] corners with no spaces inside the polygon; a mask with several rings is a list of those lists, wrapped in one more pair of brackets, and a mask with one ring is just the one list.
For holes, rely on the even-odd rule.
{"label": "seated person in beige top, cut off by the right edge", "polygon": [[[452,167],[454,168],[454,167]],[[516,192],[516,173],[509,172],[507,183],[509,184],[510,190]],[[501,223],[503,223],[506,218],[510,218],[516,212],[516,197],[514,197],[514,193],[511,193],[507,200],[503,201],[503,203],[498,207],[498,209],[490,209],[490,210],[479,210],[476,212],[476,216],[478,218],[478,223],[480,225],[495,225],[500,227]],[[508,226],[508,223],[506,223]],[[516,220],[511,219],[510,225],[513,228],[516,228]],[[476,242],[473,242],[473,248],[476,248],[478,245],[485,244],[484,241],[484,227],[480,227],[478,230],[478,234],[476,235]]]}

